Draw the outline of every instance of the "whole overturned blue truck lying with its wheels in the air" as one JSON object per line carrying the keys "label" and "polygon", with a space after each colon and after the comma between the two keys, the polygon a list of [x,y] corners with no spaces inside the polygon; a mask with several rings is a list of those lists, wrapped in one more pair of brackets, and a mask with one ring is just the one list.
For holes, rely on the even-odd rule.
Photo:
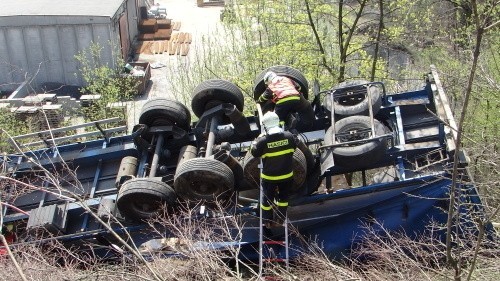
{"label": "whole overturned blue truck lying with its wheels in the air", "polygon": [[[307,249],[307,239],[340,258],[375,222],[415,236],[431,222],[446,222],[456,125],[434,68],[416,91],[388,94],[382,83],[358,80],[325,91],[315,85],[311,98],[299,71],[269,70],[295,80],[303,97],[287,120],[301,140],[291,163],[291,258]],[[256,78],[255,100],[266,71]],[[193,91],[191,109],[196,122],[182,103],[151,99],[130,135],[108,137],[113,131],[98,126],[102,139],[64,145],[45,139],[46,148],[4,156],[2,229],[11,234],[10,246],[56,239],[93,245],[94,253],[109,257],[116,251],[99,251],[115,241],[109,227],[135,245],[169,237],[168,230],[148,231],[147,221],[187,204],[197,208],[194,218],[237,217],[237,239],[229,235],[217,247],[237,246],[245,259],[258,259],[259,159],[248,151],[261,133],[259,115],[244,116],[241,91],[220,79]],[[457,198],[474,203],[460,211],[481,212],[467,156],[459,153]],[[352,174],[356,188],[333,185]],[[284,232],[265,235],[279,240]]]}

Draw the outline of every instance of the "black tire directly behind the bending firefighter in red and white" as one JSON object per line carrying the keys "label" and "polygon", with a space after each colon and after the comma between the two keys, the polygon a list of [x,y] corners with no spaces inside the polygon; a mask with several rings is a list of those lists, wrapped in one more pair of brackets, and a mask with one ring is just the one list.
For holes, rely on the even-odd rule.
{"label": "black tire directly behind the bending firefighter in red and white", "polygon": [[264,71],[259,73],[259,75],[257,75],[257,78],[255,78],[255,81],[253,84],[254,85],[253,86],[253,98],[254,98],[254,100],[258,100],[260,95],[262,95],[262,93],[267,88],[267,86],[264,84],[263,79],[264,79],[264,75],[266,75],[266,73],[268,71],[273,71],[278,75],[286,76],[286,77],[292,79],[293,81],[297,82],[297,84],[300,85],[300,92],[302,93],[304,98],[306,98],[306,99],[308,98],[309,83],[307,83],[306,77],[304,77],[304,75],[300,71],[298,71],[297,69],[292,68],[290,66],[275,65],[275,66],[271,66],[271,67],[265,69]]}

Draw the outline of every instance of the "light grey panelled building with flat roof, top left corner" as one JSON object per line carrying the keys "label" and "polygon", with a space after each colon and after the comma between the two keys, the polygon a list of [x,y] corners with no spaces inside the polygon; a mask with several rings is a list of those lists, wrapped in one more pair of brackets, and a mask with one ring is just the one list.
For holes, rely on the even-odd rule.
{"label": "light grey panelled building with flat roof, top left corner", "polygon": [[137,36],[143,0],[4,1],[0,9],[0,90],[26,79],[83,85],[78,52],[103,47],[101,61],[114,67],[127,58]]}

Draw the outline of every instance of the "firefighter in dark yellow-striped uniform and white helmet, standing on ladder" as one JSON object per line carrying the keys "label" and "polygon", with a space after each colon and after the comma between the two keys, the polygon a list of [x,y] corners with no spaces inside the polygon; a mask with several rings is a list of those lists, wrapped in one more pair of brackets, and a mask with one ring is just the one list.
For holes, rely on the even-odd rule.
{"label": "firefighter in dark yellow-striped uniform and white helmet, standing on ladder", "polygon": [[[278,115],[272,111],[264,114],[262,125],[265,133],[254,140],[250,152],[262,159],[260,177],[264,197],[260,207],[265,226],[270,228],[282,224],[286,218],[288,193],[293,185],[293,153],[299,140],[283,131]],[[273,219],[273,206],[277,207],[276,220]]]}

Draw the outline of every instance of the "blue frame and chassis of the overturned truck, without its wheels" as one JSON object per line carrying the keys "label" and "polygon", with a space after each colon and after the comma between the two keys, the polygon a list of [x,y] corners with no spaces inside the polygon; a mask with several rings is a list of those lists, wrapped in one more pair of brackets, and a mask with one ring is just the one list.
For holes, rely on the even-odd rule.
{"label": "blue frame and chassis of the overturned truck, without its wheels", "polygon": [[[288,212],[291,225],[300,233],[300,237],[290,238],[292,258],[307,249],[303,239],[319,241],[328,256],[342,258],[361,241],[366,225],[377,227],[375,222],[388,231],[404,231],[413,237],[423,233],[431,222],[446,222],[452,184],[449,169],[456,150],[456,125],[434,67],[424,82],[420,90],[395,94],[384,92],[380,110],[376,114],[370,111],[373,118],[390,128],[390,132],[364,141],[385,139],[388,147],[380,159],[367,159],[370,163],[363,169],[335,163],[332,148],[346,144],[325,144],[325,131],[335,123],[335,117],[325,110],[321,100],[325,95],[333,99],[336,91],[329,89],[315,93],[312,102],[314,125],[310,130],[300,132],[300,136],[308,147],[316,150],[312,153],[312,163],[308,166],[301,191],[291,199]],[[82,208],[82,204],[96,210],[100,217],[116,216],[121,224],[114,223],[111,227],[119,234],[128,232],[136,245],[161,238],[162,235],[148,231],[150,226],[147,223],[124,218],[116,208],[120,181],[117,174],[121,162],[125,157],[138,159],[134,178],[144,177],[151,166],[158,166],[158,178],[172,185],[178,159],[182,156],[179,142],[195,147],[209,142],[206,135],[210,126],[207,124],[218,112],[224,112],[230,119],[236,116],[231,119],[233,125],[220,126],[216,130],[233,130],[226,138],[231,147],[230,154],[242,159],[250,142],[260,134],[258,116],[242,120],[237,110],[228,104],[205,112],[185,133],[175,126],[149,128],[152,135],[168,132],[173,136],[162,142],[164,150],[156,164],[152,161],[158,154],[152,151],[158,146],[140,140],[137,133],[140,128],[131,135],[116,137],[108,137],[106,130],[99,129],[105,136],[103,139],[50,146],[4,157],[0,160],[5,167],[4,174],[12,181],[2,180],[2,202],[8,203],[2,205],[3,224],[14,225],[18,238],[11,246],[57,239],[68,246],[100,245],[102,249],[108,249],[102,251],[102,256],[109,257],[109,245],[113,241],[109,229],[89,214],[88,209]],[[236,127],[244,127],[242,133],[235,132]],[[212,141],[217,142],[216,138]],[[155,137],[148,141],[154,142]],[[50,140],[48,142],[50,144]],[[459,198],[474,203],[475,212],[481,214],[479,194],[467,174],[467,156],[463,151],[459,153],[462,180]],[[397,176],[379,183],[367,182],[366,170],[381,167],[393,167]],[[332,176],[355,171],[362,172],[362,186],[336,191],[328,186]],[[57,174],[62,191],[47,179],[50,173]],[[253,188],[245,179],[236,181],[239,181],[236,183],[238,188],[235,187],[228,200],[231,204],[224,214],[211,211],[207,205],[200,216],[215,220],[238,216],[242,222],[242,236],[236,242],[228,241],[227,245],[241,247],[241,257],[255,261],[259,247],[257,199],[240,196],[241,192]],[[318,190],[321,182],[326,183],[326,192]],[[19,193],[22,183],[30,187]],[[460,212],[471,210],[460,209]],[[33,218],[35,215],[36,219]],[[40,231],[42,235],[39,235]],[[437,234],[442,236],[444,232]],[[164,235],[168,236],[168,232]],[[283,231],[270,230],[266,235],[281,239]]]}

